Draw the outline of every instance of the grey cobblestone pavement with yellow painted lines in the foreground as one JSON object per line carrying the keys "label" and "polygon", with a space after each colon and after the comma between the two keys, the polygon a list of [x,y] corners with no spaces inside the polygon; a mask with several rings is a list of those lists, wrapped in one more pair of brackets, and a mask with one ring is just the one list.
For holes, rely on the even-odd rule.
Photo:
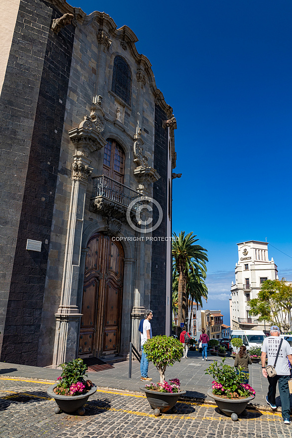
{"label": "grey cobblestone pavement with yellow painted lines in the foreground", "polygon": [[30,380],[0,380],[1,438],[292,437],[292,426],[284,425],[281,413],[252,409],[233,422],[215,405],[178,402],[176,414],[156,418],[144,396],[115,391],[98,391],[83,417],[56,415],[47,387]]}

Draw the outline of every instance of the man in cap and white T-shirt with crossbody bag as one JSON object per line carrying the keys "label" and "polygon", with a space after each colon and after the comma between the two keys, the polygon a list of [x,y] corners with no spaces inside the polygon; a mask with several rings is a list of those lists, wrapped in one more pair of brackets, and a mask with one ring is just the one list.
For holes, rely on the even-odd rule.
{"label": "man in cap and white T-shirt with crossbody bag", "polygon": [[[288,380],[290,379],[290,370],[288,360],[292,364],[292,348],[287,340],[280,338],[280,329],[278,326],[272,326],[270,329],[271,336],[264,339],[262,345],[262,372],[263,376],[268,378],[269,389],[266,402],[271,406],[273,411],[277,410],[276,406],[276,388],[278,388],[282,405],[282,417],[285,424],[291,424],[290,421],[290,392]],[[276,373],[271,377],[266,369],[266,357],[268,357],[268,367],[275,367]],[[270,368],[271,369],[271,368]],[[273,371],[273,369],[272,369]],[[269,370],[271,373],[271,371]]]}

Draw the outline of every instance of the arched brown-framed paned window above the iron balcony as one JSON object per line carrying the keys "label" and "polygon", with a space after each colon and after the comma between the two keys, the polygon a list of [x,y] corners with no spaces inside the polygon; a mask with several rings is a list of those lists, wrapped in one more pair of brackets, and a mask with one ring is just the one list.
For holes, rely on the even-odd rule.
{"label": "arched brown-framed paned window above the iron balcony", "polygon": [[103,174],[119,183],[124,183],[125,152],[122,146],[109,138],[104,147]]}

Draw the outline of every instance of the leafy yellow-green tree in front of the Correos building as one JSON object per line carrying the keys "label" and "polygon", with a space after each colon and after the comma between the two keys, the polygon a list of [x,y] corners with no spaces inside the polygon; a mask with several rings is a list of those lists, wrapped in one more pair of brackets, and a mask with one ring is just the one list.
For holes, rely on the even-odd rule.
{"label": "leafy yellow-green tree in front of the Correos building", "polygon": [[266,280],[258,293],[258,298],[249,301],[250,315],[259,321],[269,321],[283,331],[291,329],[292,286],[285,279]]}

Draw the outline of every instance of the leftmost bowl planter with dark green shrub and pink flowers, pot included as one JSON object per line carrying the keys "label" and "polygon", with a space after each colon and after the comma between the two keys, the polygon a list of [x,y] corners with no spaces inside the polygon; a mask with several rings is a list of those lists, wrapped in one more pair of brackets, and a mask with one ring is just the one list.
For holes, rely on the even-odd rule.
{"label": "leftmost bowl planter with dark green shrub and pink flowers, pot included", "polygon": [[55,399],[58,407],[55,414],[61,411],[71,413],[78,411],[79,415],[85,414],[83,405],[88,398],[94,394],[97,387],[90,381],[85,380],[87,365],[82,359],[75,359],[59,365],[63,372],[58,377],[58,383],[51,385],[47,389],[47,394]]}

